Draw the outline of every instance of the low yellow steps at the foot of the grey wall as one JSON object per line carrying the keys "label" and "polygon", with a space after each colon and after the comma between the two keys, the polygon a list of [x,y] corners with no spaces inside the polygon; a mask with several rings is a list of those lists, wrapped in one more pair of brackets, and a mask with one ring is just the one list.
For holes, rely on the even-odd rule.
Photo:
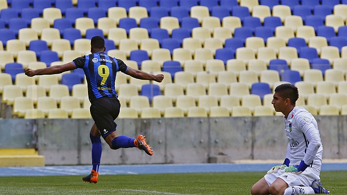
{"label": "low yellow steps at the foot of the grey wall", "polygon": [[35,149],[0,149],[0,167],[41,167],[44,156]]}

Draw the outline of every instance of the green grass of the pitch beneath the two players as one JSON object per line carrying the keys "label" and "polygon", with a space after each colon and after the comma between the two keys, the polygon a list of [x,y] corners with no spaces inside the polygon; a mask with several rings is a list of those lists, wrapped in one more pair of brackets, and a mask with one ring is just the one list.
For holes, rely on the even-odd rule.
{"label": "green grass of the pitch beneath the two players", "polygon": [[[0,195],[250,195],[264,172],[100,175],[97,184],[83,176],[0,177]],[[346,195],[347,171],[322,172],[332,195]]]}

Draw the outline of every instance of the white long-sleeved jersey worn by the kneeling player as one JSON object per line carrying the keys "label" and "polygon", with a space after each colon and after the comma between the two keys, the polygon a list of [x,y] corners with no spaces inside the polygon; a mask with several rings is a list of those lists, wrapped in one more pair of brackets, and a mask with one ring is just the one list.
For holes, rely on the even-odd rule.
{"label": "white long-sleeved jersey worn by the kneeling player", "polygon": [[320,172],[323,146],[315,118],[302,107],[294,107],[288,117],[283,118],[289,141],[286,158],[290,165],[299,165],[304,160],[306,165]]}

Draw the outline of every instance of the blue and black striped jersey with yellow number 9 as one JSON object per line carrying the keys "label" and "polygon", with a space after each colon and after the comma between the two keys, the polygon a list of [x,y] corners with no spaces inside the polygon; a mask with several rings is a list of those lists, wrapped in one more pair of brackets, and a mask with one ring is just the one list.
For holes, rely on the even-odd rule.
{"label": "blue and black striped jersey with yellow number 9", "polygon": [[85,71],[90,102],[101,97],[118,97],[114,88],[116,73],[128,70],[122,60],[96,52],[76,58],[72,62]]}

